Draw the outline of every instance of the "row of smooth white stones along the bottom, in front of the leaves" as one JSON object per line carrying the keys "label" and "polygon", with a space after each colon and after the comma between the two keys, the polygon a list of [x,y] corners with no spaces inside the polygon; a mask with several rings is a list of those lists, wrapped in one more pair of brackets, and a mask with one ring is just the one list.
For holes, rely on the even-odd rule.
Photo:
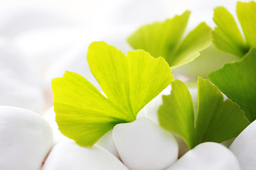
{"label": "row of smooth white stones along the bottom, in front of the leaves", "polygon": [[38,113],[0,106],[0,169],[252,170],[256,166],[255,132],[253,122],[230,147],[205,142],[178,159],[183,143],[148,118],[116,125],[89,148],[65,137],[60,140],[55,124]]}

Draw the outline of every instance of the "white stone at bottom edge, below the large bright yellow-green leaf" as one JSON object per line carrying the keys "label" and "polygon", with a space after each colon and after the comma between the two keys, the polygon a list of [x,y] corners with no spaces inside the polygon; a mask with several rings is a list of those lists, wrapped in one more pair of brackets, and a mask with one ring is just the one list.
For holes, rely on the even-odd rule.
{"label": "white stone at bottom edge, below the large bright yellow-green leaf", "polygon": [[128,170],[122,162],[102,147],[80,147],[75,142],[61,142],[53,147],[43,170]]}

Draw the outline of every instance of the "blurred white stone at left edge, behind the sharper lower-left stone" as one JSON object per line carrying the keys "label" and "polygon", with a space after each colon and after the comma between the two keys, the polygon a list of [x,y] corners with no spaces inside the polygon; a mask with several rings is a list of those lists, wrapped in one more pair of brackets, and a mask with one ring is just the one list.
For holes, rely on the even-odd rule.
{"label": "blurred white stone at left edge, behind the sharper lower-left stone", "polygon": [[40,111],[43,90],[33,64],[9,40],[0,40],[0,56],[0,105]]}

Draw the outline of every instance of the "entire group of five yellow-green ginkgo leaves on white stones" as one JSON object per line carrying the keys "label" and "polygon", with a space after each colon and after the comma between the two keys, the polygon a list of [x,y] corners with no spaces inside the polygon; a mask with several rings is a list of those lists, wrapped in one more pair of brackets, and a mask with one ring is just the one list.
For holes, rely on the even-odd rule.
{"label": "entire group of five yellow-green ginkgo leaves on white stones", "polygon": [[[53,79],[53,105],[60,131],[89,147],[114,125],[136,120],[139,111],[171,84],[171,69],[193,61],[210,45],[212,31],[206,23],[183,38],[189,15],[186,11],[139,28],[128,42],[143,50],[127,55],[105,42],[93,42],[87,61],[103,92],[73,72]],[[190,148],[236,137],[249,125],[248,120],[256,119],[256,3],[238,2],[237,15],[244,36],[225,8],[215,8],[214,45],[242,59],[209,74],[215,86],[198,78],[197,113],[182,81],[173,81],[171,95],[163,96],[160,125],[183,138]]]}

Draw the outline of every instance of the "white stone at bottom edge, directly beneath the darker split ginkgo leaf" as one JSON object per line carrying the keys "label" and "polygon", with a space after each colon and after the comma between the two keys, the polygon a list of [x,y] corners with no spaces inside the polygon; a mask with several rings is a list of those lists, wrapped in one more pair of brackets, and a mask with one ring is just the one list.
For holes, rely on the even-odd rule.
{"label": "white stone at bottom edge, directly beneath the darker split ginkgo leaf", "polygon": [[183,155],[166,170],[240,170],[238,159],[226,147],[205,142]]}

